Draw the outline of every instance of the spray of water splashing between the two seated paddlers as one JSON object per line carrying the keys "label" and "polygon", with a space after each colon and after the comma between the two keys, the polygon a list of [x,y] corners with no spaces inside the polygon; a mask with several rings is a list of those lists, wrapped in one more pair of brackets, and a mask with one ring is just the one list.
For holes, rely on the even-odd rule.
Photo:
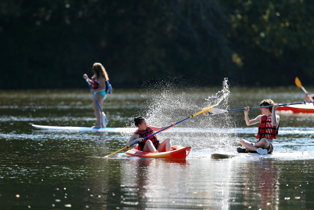
{"label": "spray of water splashing between the two seated paddlers", "polygon": [[[228,109],[228,79],[225,78],[222,84],[223,88],[219,90],[198,87],[197,83],[191,84],[178,77],[148,81],[141,90],[144,103],[139,106],[137,116],[144,116],[148,125],[162,127],[211,105]],[[227,113],[213,116],[199,114],[157,135],[160,140],[171,138],[175,145],[191,145],[193,150],[233,150],[233,124]]]}

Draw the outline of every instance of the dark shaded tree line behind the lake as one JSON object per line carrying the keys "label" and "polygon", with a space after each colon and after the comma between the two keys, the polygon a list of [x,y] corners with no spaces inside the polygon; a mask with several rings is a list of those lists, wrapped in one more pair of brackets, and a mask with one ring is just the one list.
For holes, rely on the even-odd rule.
{"label": "dark shaded tree line behind the lake", "polygon": [[94,62],[116,88],[163,75],[306,84],[313,11],[309,0],[3,0],[0,89],[82,88]]}

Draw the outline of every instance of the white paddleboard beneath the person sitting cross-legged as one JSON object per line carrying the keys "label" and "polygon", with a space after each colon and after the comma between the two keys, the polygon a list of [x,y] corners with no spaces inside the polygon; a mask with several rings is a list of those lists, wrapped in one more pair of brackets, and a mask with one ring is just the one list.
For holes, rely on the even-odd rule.
{"label": "white paddleboard beneath the person sitting cross-legged", "polygon": [[211,157],[214,159],[223,159],[230,157],[255,157],[255,158],[298,158],[298,157],[312,157],[312,152],[273,152],[271,154],[260,155],[258,153],[214,153]]}

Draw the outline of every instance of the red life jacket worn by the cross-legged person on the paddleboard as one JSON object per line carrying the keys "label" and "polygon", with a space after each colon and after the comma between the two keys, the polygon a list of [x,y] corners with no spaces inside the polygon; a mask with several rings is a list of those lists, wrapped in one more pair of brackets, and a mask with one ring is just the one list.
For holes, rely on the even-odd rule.
{"label": "red life jacket worn by the cross-legged person on the paddleboard", "polygon": [[257,139],[261,140],[263,137],[268,139],[276,139],[276,135],[278,135],[278,128],[276,126],[272,126],[272,115],[268,117],[266,115],[262,115],[261,124],[258,126]]}

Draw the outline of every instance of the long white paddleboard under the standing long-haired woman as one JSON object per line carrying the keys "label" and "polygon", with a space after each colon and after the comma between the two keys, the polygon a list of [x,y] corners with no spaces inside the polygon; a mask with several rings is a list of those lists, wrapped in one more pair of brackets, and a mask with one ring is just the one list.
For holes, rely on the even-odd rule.
{"label": "long white paddleboard under the standing long-haired woman", "polygon": [[[34,128],[46,130],[67,130],[67,131],[106,131],[106,132],[123,132],[130,128],[91,128],[91,127],[71,127],[71,126],[45,126],[45,125],[32,125]],[[132,128],[134,130],[134,128]]]}

